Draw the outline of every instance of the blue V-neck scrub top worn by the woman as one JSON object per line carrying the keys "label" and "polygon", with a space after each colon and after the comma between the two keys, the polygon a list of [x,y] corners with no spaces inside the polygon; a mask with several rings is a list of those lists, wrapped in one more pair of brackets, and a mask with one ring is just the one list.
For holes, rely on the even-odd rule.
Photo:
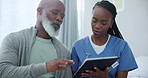
{"label": "blue V-neck scrub top worn by the woman", "polygon": [[88,58],[109,56],[118,56],[120,58],[118,60],[119,65],[108,73],[109,78],[115,78],[115,74],[118,71],[130,71],[138,68],[135,58],[127,42],[115,36],[110,37],[105,49],[100,54],[95,52],[88,36],[76,41],[73,44],[71,52],[71,58],[75,62],[75,64],[72,66],[73,72],[78,70],[79,66],[86,59],[87,53],[90,54]]}

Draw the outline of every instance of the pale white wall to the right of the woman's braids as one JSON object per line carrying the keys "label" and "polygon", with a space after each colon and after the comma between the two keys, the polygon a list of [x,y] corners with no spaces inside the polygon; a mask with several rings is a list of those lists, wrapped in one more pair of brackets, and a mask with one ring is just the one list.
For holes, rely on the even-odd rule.
{"label": "pale white wall to the right of the woman's braids", "polygon": [[118,26],[135,56],[148,56],[148,0],[125,0],[125,11],[118,14]]}

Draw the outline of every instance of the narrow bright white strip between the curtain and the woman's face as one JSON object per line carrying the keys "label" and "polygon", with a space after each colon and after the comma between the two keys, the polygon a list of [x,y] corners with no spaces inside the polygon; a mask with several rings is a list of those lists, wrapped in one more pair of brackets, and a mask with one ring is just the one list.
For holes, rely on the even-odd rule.
{"label": "narrow bright white strip between the curtain and the woman's face", "polygon": [[82,14],[82,24],[81,26],[81,30],[80,30],[80,38],[83,38],[87,35],[92,34],[91,32],[91,25],[90,25],[90,21],[91,21],[91,15],[92,15],[92,8],[94,6],[94,4],[98,1],[98,0],[82,0],[83,1],[83,8],[84,12]]}

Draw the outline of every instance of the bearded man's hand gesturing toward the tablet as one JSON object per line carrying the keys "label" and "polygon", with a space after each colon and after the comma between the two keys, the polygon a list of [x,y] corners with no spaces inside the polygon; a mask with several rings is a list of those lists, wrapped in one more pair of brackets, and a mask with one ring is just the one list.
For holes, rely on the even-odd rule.
{"label": "bearded man's hand gesturing toward the tablet", "polygon": [[73,65],[73,60],[54,59],[46,63],[47,72],[53,72],[55,70],[65,70],[64,65]]}

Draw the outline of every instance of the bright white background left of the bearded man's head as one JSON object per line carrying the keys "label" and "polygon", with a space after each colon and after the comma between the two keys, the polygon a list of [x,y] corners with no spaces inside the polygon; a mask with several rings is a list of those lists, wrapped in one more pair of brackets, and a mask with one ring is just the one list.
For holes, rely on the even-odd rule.
{"label": "bright white background left of the bearded man's head", "polygon": [[0,0],[0,44],[11,32],[34,26],[40,0]]}

